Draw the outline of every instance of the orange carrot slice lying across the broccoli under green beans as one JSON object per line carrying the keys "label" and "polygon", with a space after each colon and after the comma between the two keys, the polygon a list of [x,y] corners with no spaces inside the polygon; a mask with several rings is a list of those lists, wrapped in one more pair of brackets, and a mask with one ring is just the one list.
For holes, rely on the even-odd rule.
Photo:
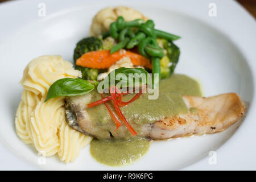
{"label": "orange carrot slice lying across the broccoli under green beans", "polygon": [[76,60],[76,65],[87,68],[105,69],[109,68],[125,56],[130,57],[133,65],[142,65],[146,68],[152,68],[150,60],[146,57],[139,55],[138,53],[124,50],[117,51],[113,54],[110,54],[110,50],[87,52]]}

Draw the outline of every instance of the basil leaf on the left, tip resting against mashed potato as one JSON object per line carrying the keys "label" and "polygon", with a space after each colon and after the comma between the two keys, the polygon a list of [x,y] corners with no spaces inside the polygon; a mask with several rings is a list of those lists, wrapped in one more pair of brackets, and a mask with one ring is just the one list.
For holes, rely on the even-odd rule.
{"label": "basil leaf on the left, tip resting against mashed potato", "polygon": [[89,93],[94,88],[94,84],[81,78],[62,78],[50,86],[46,101],[59,96],[79,96]]}

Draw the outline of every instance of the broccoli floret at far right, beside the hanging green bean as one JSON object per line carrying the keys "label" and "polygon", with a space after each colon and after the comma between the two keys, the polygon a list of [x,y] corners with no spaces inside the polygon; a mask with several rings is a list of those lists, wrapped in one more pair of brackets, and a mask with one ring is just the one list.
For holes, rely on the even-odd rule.
{"label": "broccoli floret at far right, beside the hanging green bean", "polygon": [[179,61],[180,49],[174,43],[166,39],[157,39],[160,47],[166,51],[166,56],[160,60],[161,78],[167,78],[174,73],[176,64]]}

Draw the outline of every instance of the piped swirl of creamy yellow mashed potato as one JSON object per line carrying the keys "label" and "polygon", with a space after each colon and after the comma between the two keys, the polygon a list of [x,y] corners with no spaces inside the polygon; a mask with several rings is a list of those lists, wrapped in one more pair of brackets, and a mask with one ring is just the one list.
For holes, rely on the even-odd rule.
{"label": "piped swirl of creamy yellow mashed potato", "polygon": [[41,155],[59,155],[66,163],[74,161],[80,149],[92,140],[71,129],[65,122],[64,97],[46,99],[49,86],[65,77],[81,77],[81,72],[61,56],[40,56],[24,69],[23,92],[16,111],[16,133],[31,143]]}

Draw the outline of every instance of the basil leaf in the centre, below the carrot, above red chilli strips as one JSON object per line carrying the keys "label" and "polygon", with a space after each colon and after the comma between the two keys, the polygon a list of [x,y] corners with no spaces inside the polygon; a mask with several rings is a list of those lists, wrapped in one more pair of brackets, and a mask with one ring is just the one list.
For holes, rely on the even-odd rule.
{"label": "basil leaf in the centre, below the carrot, above red chilli strips", "polygon": [[[103,82],[105,85],[138,85],[147,84],[148,72],[142,68],[118,68],[114,69],[104,78]],[[106,88],[105,88],[106,89]]]}

